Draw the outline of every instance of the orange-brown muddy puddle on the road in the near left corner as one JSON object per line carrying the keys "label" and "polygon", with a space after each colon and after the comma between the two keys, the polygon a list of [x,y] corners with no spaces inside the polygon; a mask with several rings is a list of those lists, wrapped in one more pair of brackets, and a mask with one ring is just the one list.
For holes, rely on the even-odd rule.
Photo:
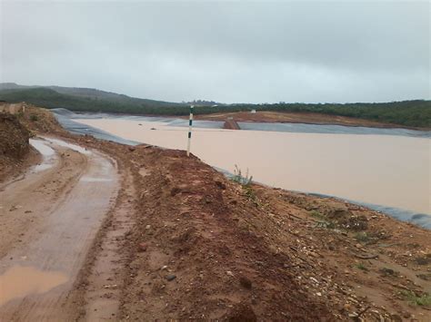
{"label": "orange-brown muddy puddle on the road in the near left corner", "polygon": [[64,284],[67,279],[61,272],[22,266],[9,268],[0,276],[0,306],[11,299],[45,293]]}

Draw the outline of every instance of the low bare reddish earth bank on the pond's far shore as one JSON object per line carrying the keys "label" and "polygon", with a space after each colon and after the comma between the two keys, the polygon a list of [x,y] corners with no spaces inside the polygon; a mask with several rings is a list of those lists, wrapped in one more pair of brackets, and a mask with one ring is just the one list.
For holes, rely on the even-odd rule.
{"label": "low bare reddish earth bank on the pond's far shore", "polygon": [[346,126],[366,126],[376,128],[406,128],[402,125],[368,121],[346,116],[327,115],[312,112],[226,112],[195,115],[196,120],[226,121],[232,117],[236,122],[281,122],[306,124],[332,124]]}

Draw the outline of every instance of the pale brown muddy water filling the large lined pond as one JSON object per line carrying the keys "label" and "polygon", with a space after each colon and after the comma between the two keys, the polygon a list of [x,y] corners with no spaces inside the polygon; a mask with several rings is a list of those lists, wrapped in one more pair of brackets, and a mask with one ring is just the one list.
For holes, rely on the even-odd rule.
{"label": "pale brown muddy water filling the large lined pond", "polygon": [[[185,150],[187,129],[163,122],[75,120],[122,138]],[[155,130],[151,130],[155,129]],[[194,129],[191,151],[287,190],[431,214],[431,140],[395,135]]]}

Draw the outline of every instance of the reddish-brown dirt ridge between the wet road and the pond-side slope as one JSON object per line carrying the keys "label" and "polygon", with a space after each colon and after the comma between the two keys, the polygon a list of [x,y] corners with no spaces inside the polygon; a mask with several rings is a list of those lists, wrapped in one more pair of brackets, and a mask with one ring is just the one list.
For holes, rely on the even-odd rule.
{"label": "reddish-brown dirt ridge between the wet road and the pond-side slope", "polygon": [[[128,312],[138,305],[156,314],[139,318],[250,320],[253,311],[275,319],[333,317],[283,269],[289,257],[269,251],[266,240],[247,227],[246,218],[258,216],[258,210],[247,202],[238,205],[242,198],[232,182],[196,158],[185,158],[183,151],[144,153],[145,164],[166,162],[142,177],[143,216],[132,238],[148,249],[131,263],[130,290],[146,289],[168,306],[156,314],[159,298],[146,298],[145,304],[130,298]],[[173,274],[175,280],[168,281]]]}

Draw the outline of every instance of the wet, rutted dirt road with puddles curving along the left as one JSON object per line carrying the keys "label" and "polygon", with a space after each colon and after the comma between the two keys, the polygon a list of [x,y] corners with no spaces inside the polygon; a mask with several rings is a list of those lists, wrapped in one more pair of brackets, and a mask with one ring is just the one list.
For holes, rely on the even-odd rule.
{"label": "wet, rutted dirt road with puddles curving along the left", "polygon": [[62,305],[118,191],[115,161],[55,139],[41,164],[0,186],[0,317],[65,320]]}

